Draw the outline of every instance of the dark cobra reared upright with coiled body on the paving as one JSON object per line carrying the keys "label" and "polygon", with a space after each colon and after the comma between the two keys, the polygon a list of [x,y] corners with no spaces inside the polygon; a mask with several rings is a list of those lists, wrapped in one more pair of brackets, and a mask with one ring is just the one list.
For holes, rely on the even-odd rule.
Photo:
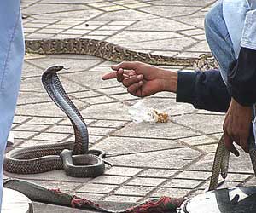
{"label": "dark cobra reared upright with coiled body on the paving", "polygon": [[4,157],[4,170],[34,174],[63,168],[67,176],[96,177],[103,174],[105,164],[102,157],[105,153],[101,150],[88,150],[87,126],[56,74],[62,68],[63,66],[49,67],[42,76],[42,82],[51,99],[73,124],[75,141],[14,149]]}

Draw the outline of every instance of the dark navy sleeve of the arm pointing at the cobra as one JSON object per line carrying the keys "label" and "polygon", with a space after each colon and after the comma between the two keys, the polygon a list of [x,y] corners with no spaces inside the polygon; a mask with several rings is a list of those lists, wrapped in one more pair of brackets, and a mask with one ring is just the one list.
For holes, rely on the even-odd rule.
{"label": "dark navy sleeve of the arm pointing at the cobra", "polygon": [[176,101],[190,103],[197,109],[227,112],[230,94],[218,70],[178,72]]}

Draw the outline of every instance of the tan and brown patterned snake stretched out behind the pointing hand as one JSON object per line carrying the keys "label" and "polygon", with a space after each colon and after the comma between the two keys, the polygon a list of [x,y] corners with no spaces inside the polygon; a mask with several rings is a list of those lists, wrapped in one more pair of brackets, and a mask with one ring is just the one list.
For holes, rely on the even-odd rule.
{"label": "tan and brown patterned snake stretched out behind the pointing hand", "polygon": [[79,54],[93,55],[113,62],[124,60],[142,61],[151,65],[194,66],[195,70],[218,67],[212,55],[204,54],[195,58],[169,57],[146,54],[125,49],[113,43],[88,38],[67,38],[49,40],[26,40],[26,53],[35,54]]}

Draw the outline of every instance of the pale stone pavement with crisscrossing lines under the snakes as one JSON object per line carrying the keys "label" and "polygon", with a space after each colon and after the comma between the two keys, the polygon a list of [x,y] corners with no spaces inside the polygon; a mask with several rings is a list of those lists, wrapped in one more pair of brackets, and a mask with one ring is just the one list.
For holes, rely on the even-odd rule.
{"label": "pale stone pavement with crisscrossing lines under the snakes", "polygon": [[[203,19],[212,0],[24,0],[26,38],[90,37],[161,55],[197,56],[209,51]],[[224,114],[196,110],[159,93],[148,107],[169,112],[167,124],[134,124],[128,108],[140,101],[116,81],[101,80],[112,62],[88,55],[27,58],[13,132],[15,148],[73,140],[73,128],[40,83],[48,66],[61,64],[68,95],[89,127],[90,146],[108,153],[113,167],[95,179],[62,170],[19,177],[93,200],[137,202],[161,195],[183,198],[208,186]],[[166,66],[183,70],[182,67]],[[253,184],[248,155],[231,157],[222,187]]]}

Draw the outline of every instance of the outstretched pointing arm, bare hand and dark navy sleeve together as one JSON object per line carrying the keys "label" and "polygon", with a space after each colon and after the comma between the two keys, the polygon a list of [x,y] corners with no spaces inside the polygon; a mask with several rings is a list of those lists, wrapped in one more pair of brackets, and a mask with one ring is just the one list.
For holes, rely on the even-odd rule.
{"label": "outstretched pointing arm, bare hand and dark navy sleeve together", "polygon": [[102,79],[116,78],[132,95],[143,97],[170,91],[177,93],[177,102],[216,112],[227,112],[230,105],[230,95],[218,70],[173,72],[141,62],[123,62],[112,68],[113,72]]}

